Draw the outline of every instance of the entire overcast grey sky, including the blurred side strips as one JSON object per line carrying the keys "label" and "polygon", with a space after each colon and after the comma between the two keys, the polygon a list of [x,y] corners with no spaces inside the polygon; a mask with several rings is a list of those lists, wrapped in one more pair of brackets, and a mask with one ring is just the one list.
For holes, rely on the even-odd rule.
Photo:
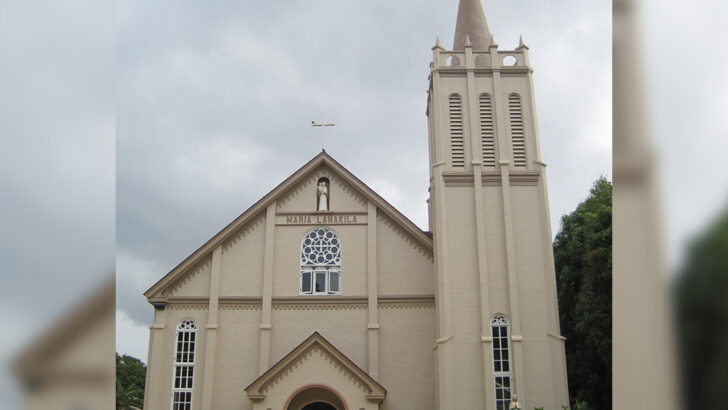
{"label": "entire overcast grey sky, including the blurred side strips", "polygon": [[[644,2],[669,259],[723,209],[728,5]],[[531,48],[554,233],[611,178],[605,0],[488,0]],[[118,347],[146,361],[141,295],[319,152],[426,226],[430,47],[457,0],[0,2],[0,338],[7,358],[114,266]],[[116,138],[115,138],[116,136]],[[116,183],[115,183],[116,181]],[[116,220],[114,216],[116,215]],[[116,224],[115,224],[116,222]],[[0,408],[16,408],[0,372]]]}

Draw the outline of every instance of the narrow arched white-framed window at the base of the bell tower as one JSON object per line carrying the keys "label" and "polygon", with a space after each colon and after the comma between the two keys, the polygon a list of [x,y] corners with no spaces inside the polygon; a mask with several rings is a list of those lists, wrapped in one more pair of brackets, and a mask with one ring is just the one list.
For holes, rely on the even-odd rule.
{"label": "narrow arched white-framed window at the base of the bell tower", "polygon": [[490,321],[493,337],[493,378],[495,381],[495,408],[508,410],[513,394],[513,373],[511,372],[511,349],[508,319],[497,314]]}

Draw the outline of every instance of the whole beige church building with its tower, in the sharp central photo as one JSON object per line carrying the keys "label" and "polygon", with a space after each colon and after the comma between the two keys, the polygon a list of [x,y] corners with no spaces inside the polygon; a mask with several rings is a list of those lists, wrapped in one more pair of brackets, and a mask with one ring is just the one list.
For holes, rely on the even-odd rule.
{"label": "whole beige church building with its tower, in the sharp central photo", "polygon": [[568,406],[532,73],[461,0],[432,48],[430,231],[322,151],[145,293],[144,408]]}

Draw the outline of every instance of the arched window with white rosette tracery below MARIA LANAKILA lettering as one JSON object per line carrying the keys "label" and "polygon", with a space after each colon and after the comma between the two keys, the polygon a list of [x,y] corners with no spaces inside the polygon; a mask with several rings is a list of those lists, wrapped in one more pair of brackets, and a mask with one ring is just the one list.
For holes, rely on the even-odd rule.
{"label": "arched window with white rosette tracery below MARIA LANAKILA lettering", "polygon": [[341,240],[329,228],[314,228],[301,241],[301,294],[341,293]]}

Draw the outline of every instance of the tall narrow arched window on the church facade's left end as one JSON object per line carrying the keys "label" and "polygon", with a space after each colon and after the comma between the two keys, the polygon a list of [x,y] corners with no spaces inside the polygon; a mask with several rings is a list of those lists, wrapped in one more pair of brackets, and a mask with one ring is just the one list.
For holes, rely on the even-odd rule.
{"label": "tall narrow arched window on the church facade's left end", "polygon": [[192,319],[177,325],[175,340],[172,410],[191,410],[197,342],[197,325]]}

